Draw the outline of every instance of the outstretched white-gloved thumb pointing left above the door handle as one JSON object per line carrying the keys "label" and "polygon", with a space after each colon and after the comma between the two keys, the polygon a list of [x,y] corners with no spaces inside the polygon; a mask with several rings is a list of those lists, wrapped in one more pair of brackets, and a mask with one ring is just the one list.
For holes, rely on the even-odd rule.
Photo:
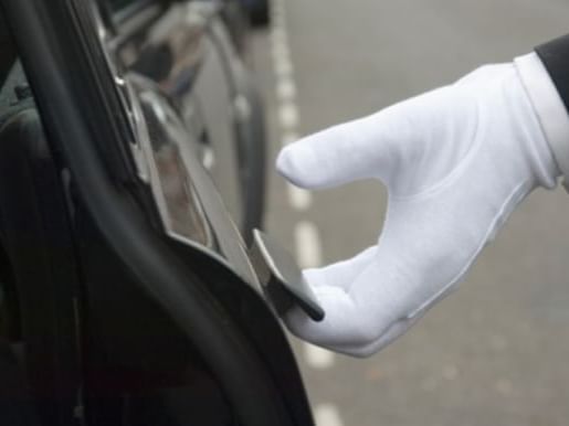
{"label": "outstretched white-gloved thumb pointing left above the door handle", "polygon": [[[392,147],[403,126],[402,106],[334,126],[285,147],[276,169],[306,189],[337,187],[359,179],[381,177],[393,167]],[[390,166],[391,164],[391,166]]]}

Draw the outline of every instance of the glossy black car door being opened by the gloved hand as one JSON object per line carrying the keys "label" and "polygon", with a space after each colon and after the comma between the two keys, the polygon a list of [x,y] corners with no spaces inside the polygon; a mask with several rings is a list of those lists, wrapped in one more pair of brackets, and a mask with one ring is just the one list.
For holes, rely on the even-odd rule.
{"label": "glossy black car door being opened by the gloved hand", "polygon": [[[0,235],[11,287],[29,297],[20,339],[42,337],[25,364],[56,366],[31,383],[42,424],[312,425],[275,309],[202,166],[199,115],[124,65],[99,6],[2,2],[33,102],[0,132],[12,180]],[[180,2],[134,7],[160,25]]]}

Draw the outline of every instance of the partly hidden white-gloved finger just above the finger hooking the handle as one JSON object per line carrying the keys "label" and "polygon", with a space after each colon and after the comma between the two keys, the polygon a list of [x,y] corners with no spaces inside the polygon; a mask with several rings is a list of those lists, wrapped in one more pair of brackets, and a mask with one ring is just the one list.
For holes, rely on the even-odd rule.
{"label": "partly hidden white-gloved finger just above the finger hooking the handle", "polygon": [[350,259],[322,268],[305,269],[304,278],[312,287],[331,286],[348,291],[351,283],[376,256],[377,246],[371,246]]}

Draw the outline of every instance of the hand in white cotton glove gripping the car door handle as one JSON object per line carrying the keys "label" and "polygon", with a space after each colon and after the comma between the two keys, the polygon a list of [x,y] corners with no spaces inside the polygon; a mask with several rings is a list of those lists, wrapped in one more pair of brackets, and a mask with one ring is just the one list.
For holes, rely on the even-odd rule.
{"label": "hand in white cotton glove gripping the car door handle", "polygon": [[277,169],[306,189],[365,178],[388,188],[377,246],[305,270],[325,320],[299,310],[285,319],[302,339],[356,356],[393,341],[454,289],[518,203],[560,174],[514,64],[292,143]]}

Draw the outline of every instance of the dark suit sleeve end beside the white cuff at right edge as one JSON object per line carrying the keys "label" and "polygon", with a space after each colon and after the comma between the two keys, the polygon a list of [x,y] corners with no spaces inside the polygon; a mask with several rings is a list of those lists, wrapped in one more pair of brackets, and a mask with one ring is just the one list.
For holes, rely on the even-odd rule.
{"label": "dark suit sleeve end beside the white cuff at right edge", "polygon": [[569,34],[536,47],[569,111]]}

